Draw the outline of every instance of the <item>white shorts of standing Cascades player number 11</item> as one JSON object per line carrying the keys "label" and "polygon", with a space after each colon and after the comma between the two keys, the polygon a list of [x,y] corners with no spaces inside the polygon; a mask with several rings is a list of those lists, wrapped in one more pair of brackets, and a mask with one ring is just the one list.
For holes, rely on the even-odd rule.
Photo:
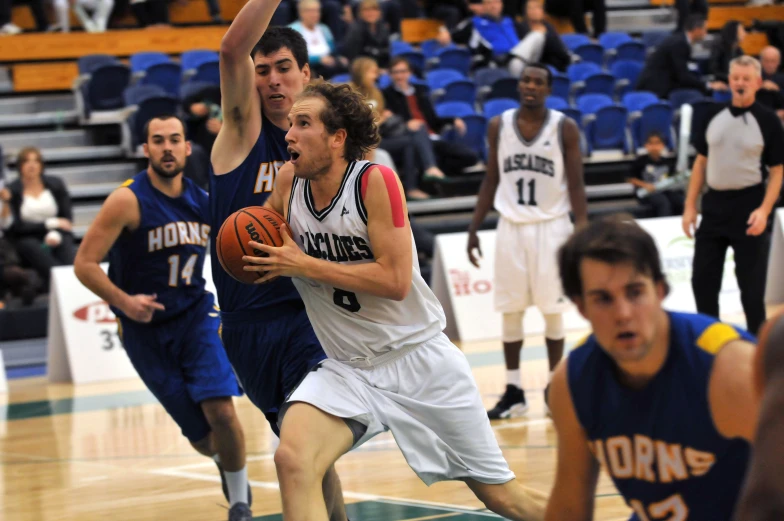
{"label": "white shorts of standing Cascades player number 11", "polygon": [[498,221],[495,239],[495,309],[501,313],[536,306],[564,313],[569,300],[558,273],[558,248],[572,234],[568,215],[530,224]]}

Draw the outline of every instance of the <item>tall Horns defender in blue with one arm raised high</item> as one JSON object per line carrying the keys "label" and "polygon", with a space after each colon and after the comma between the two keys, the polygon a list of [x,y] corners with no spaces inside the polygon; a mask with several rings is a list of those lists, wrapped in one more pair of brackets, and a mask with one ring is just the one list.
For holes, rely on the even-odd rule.
{"label": "tall Horns defender in blue with one arm raised high", "polygon": [[[223,127],[212,149],[210,217],[212,276],[223,344],[242,387],[278,433],[277,412],[308,371],[326,358],[291,279],[241,284],[218,262],[215,235],[226,218],[262,206],[277,170],[289,160],[286,132],[294,100],[310,81],[308,49],[290,28],[267,28],[280,0],[249,0],[220,47]],[[345,520],[334,468],[324,477],[333,521]]]}

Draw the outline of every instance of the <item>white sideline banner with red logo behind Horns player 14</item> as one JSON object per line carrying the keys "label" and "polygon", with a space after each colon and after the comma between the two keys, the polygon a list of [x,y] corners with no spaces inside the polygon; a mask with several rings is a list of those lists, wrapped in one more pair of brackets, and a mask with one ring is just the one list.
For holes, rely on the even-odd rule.
{"label": "white sideline banner with red logo behind Horns player 14", "polygon": [[[107,263],[101,264],[104,271]],[[204,262],[207,290],[215,294],[210,257]],[[49,381],[74,384],[138,378],[117,334],[109,305],[79,282],[73,266],[52,269],[49,294]]]}

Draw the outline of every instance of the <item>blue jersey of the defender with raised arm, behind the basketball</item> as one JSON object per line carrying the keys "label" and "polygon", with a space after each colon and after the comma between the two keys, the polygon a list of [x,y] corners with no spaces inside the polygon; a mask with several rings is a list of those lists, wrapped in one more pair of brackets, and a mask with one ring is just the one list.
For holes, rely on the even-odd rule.
{"label": "blue jersey of the defender with raised arm, behind the basketball", "polygon": [[240,166],[216,176],[210,164],[210,256],[222,311],[257,309],[300,298],[288,277],[268,284],[237,282],[223,270],[215,250],[217,233],[226,218],[241,208],[262,206],[272,192],[278,168],[288,158],[286,131],[262,116],[259,138]]}

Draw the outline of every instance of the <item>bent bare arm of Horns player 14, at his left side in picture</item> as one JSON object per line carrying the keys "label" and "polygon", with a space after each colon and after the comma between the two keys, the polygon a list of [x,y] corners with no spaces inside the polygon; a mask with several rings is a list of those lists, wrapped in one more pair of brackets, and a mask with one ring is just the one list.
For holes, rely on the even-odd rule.
{"label": "bent bare arm of Horns player 14, at his left side in picture", "polygon": [[74,272],[90,291],[123,310],[128,318],[149,322],[156,309],[164,309],[155,301],[155,295],[128,295],[109,280],[100,266],[122,231],[136,229],[140,219],[139,204],[130,189],[118,188],[112,192],[82,239],[74,259]]}

